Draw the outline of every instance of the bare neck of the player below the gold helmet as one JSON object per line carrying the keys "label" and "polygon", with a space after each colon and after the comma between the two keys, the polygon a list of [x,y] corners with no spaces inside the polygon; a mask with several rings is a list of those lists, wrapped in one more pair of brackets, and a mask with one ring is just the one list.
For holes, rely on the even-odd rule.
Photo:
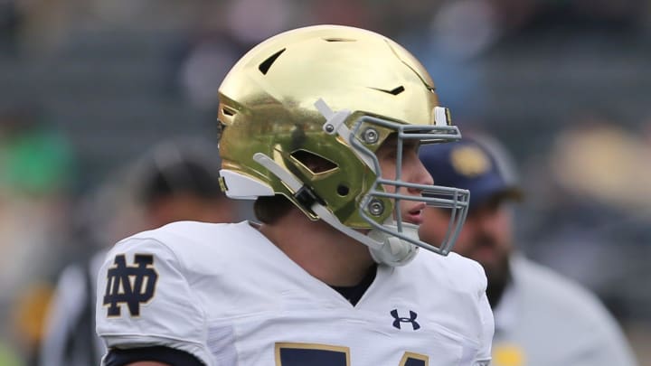
{"label": "bare neck of the player below the gold helmet", "polygon": [[373,265],[363,244],[324,221],[310,221],[297,210],[274,225],[262,225],[260,232],[307,273],[330,286],[357,285]]}

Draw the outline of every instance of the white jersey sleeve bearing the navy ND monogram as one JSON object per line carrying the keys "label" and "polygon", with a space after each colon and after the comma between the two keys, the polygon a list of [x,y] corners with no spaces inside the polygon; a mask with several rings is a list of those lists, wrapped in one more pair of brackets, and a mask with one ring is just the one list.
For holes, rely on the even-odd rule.
{"label": "white jersey sleeve bearing the navy ND monogram", "polygon": [[107,348],[166,346],[214,364],[205,344],[203,309],[172,249],[129,238],[99,269],[97,333]]}

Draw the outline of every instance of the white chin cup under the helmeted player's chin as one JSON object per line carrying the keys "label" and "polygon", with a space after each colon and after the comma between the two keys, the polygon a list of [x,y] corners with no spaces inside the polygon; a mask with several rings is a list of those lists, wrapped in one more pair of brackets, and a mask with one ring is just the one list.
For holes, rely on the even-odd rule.
{"label": "white chin cup under the helmeted player's chin", "polygon": [[[385,227],[397,230],[395,221],[391,225],[385,225]],[[403,222],[402,234],[410,237],[410,239],[418,240],[418,228],[417,225]],[[380,264],[391,267],[404,266],[409,263],[411,259],[415,258],[419,251],[418,246],[411,244],[407,240],[394,237],[382,230],[373,229],[369,231],[367,236],[370,239],[373,239],[373,241],[382,243],[380,248],[369,247],[373,260]]]}

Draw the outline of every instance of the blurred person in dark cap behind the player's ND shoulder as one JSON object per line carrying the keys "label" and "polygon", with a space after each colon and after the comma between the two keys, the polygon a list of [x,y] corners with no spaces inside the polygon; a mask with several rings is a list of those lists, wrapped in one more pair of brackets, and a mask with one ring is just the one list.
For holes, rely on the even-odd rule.
{"label": "blurred person in dark cap behind the player's ND shoulder", "polygon": [[39,356],[42,366],[97,365],[106,352],[95,333],[94,312],[97,272],[106,254],[102,247],[174,221],[239,219],[238,206],[221,192],[216,154],[202,140],[164,142],[90,197],[79,212],[76,240],[100,249],[61,272]]}

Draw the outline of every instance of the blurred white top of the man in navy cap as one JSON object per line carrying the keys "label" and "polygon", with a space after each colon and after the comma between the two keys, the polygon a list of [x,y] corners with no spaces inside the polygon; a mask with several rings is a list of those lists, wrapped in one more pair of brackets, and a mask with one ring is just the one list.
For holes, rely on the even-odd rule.
{"label": "blurred white top of the man in navy cap", "polygon": [[633,366],[624,334],[599,299],[532,261],[511,259],[495,306],[495,366]]}

